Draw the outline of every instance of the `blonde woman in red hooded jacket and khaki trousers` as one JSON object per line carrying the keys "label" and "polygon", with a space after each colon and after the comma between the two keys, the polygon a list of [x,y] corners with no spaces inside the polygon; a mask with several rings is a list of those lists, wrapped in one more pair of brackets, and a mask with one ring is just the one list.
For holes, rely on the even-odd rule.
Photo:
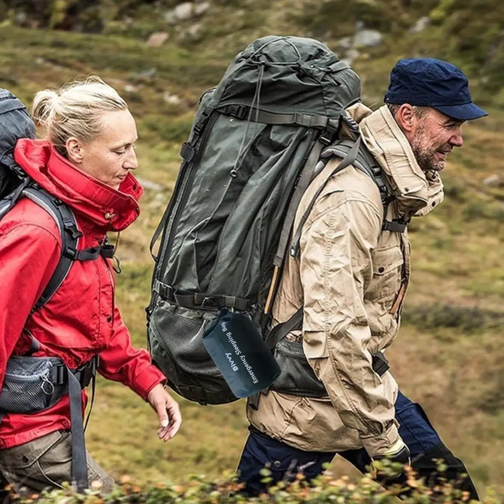
{"label": "blonde woman in red hooded jacket and khaki trousers", "polygon": [[[37,93],[32,116],[47,140],[19,140],[16,162],[70,207],[82,233],[78,249],[100,247],[108,231],[122,231],[140,213],[142,188],[132,174],[137,129],[127,104],[103,81],[88,78]],[[98,372],[146,400],[159,417],[158,436],[170,439],[181,423],[178,404],[148,353],[132,346],[115,304],[111,259],[73,262],[52,297],[32,312],[58,264],[61,243],[54,219],[28,198],[0,220],[0,387],[8,359],[27,354],[34,341],[33,356],[58,357],[69,369],[98,355]],[[82,398],[85,404],[84,392]],[[0,423],[5,480],[23,494],[72,481],[70,429],[68,394],[39,412],[6,414]],[[113,480],[89,454],[87,472],[89,482],[111,488]]]}

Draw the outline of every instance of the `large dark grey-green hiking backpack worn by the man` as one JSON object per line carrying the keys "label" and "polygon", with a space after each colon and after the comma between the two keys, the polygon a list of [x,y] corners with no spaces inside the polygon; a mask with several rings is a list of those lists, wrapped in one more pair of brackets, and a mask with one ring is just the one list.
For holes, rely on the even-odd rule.
{"label": "large dark grey-green hiking backpack worn by the man", "polygon": [[[359,77],[326,45],[278,36],[246,47],[200,100],[151,241],[152,253],[161,236],[146,309],[153,361],[186,399],[236,400],[203,335],[227,308],[247,314],[267,340],[284,259],[298,251],[298,203],[342,121],[358,139],[344,109],[359,100]],[[338,145],[342,169],[359,141]]]}

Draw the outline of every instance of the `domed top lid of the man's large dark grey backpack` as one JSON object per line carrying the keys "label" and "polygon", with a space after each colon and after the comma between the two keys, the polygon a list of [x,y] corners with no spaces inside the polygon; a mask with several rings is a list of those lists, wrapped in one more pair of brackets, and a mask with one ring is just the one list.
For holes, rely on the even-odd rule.
{"label": "domed top lid of the man's large dark grey backpack", "polygon": [[[269,35],[233,59],[215,89],[211,105],[249,106],[259,89],[261,110],[293,109],[338,119],[360,101],[360,79],[318,40]],[[257,105],[256,105],[257,106]]]}

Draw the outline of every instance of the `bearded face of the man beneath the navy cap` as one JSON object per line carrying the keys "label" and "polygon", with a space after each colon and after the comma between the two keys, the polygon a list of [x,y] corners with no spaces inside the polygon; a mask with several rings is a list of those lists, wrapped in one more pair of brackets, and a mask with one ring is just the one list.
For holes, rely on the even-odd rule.
{"label": "bearded face of the man beneath the navy cap", "polygon": [[463,122],[434,108],[428,108],[421,117],[413,116],[412,129],[406,136],[424,172],[442,170],[452,149],[462,147]]}

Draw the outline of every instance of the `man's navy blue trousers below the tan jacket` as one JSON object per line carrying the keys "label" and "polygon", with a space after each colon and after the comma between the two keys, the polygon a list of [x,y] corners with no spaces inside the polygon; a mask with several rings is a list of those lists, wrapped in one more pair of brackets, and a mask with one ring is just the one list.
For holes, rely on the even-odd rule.
{"label": "man's navy blue trousers below the tan jacket", "polygon": [[[433,451],[437,454],[439,447],[446,450],[446,454],[443,452],[445,459],[453,457],[442,444],[419,404],[413,403],[399,392],[395,408],[396,419],[400,424],[399,434],[410,449],[412,460],[421,459],[424,454]],[[245,483],[242,491],[247,495],[258,495],[265,491],[266,486],[261,483],[263,476],[260,474],[265,466],[271,470],[273,482],[277,482],[290,480],[298,472],[302,472],[307,480],[313,479],[324,472],[323,465],[331,462],[335,455],[348,460],[363,473],[366,471],[366,466],[371,463],[369,455],[363,448],[339,453],[305,452],[273,439],[253,426],[249,427],[249,432],[238,465],[238,481]],[[454,461],[461,463],[455,458]],[[471,488],[474,488],[472,482]]]}

